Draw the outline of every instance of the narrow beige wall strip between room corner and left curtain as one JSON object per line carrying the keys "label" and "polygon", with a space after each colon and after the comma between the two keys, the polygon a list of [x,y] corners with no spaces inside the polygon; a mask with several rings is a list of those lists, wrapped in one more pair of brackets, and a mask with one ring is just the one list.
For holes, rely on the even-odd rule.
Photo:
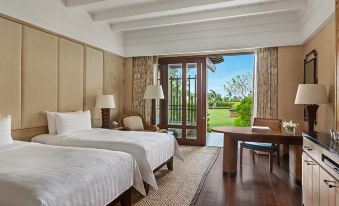
{"label": "narrow beige wall strip between room corner and left curtain", "polygon": [[133,61],[124,60],[124,113],[132,112]]}

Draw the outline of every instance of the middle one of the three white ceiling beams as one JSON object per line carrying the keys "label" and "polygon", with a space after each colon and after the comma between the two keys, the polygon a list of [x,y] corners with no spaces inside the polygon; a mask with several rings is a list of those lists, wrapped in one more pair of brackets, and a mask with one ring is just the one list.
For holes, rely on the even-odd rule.
{"label": "middle one of the three white ceiling beams", "polygon": [[[73,0],[76,1],[76,0]],[[91,16],[94,21],[104,21],[110,19],[119,19],[126,17],[140,17],[145,16],[156,17],[173,15],[176,12],[183,12],[183,10],[192,12],[192,9],[197,7],[204,7],[208,9],[208,6],[217,7],[220,4],[225,4],[234,0],[171,0],[171,1],[158,1],[134,4],[130,6],[124,6],[119,8],[109,8],[97,11],[91,11]],[[206,7],[207,6],[207,7]],[[220,8],[220,7],[219,7]],[[191,11],[190,11],[191,9]],[[201,8],[203,9],[203,8]],[[181,11],[180,11],[181,10]]]}

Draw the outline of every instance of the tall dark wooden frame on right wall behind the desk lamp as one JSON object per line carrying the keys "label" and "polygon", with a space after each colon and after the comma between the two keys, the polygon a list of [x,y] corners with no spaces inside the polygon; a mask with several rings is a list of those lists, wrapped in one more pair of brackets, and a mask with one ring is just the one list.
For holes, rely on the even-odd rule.
{"label": "tall dark wooden frame on right wall behind the desk lamp", "polygon": [[[318,53],[315,49],[306,54],[304,59],[304,84],[318,84],[317,56]],[[306,108],[304,108],[304,121],[308,121]],[[317,124],[317,120],[315,124]]]}

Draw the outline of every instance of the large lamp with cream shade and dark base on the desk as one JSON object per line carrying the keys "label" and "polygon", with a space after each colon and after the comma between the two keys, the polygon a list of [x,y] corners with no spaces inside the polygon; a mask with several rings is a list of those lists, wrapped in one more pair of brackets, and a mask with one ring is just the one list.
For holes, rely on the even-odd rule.
{"label": "large lamp with cream shade and dark base on the desk", "polygon": [[327,103],[325,87],[321,84],[299,84],[294,103],[306,105],[308,130],[314,132],[314,123],[319,104]]}

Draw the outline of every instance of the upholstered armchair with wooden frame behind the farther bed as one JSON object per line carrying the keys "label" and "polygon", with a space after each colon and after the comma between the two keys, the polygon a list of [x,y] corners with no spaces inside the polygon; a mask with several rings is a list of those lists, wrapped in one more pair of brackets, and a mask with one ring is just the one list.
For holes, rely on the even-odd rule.
{"label": "upholstered armchair with wooden frame behind the farther bed", "polygon": [[156,132],[159,128],[146,122],[142,115],[138,113],[129,113],[120,116],[118,120],[119,126],[127,131],[152,131]]}

